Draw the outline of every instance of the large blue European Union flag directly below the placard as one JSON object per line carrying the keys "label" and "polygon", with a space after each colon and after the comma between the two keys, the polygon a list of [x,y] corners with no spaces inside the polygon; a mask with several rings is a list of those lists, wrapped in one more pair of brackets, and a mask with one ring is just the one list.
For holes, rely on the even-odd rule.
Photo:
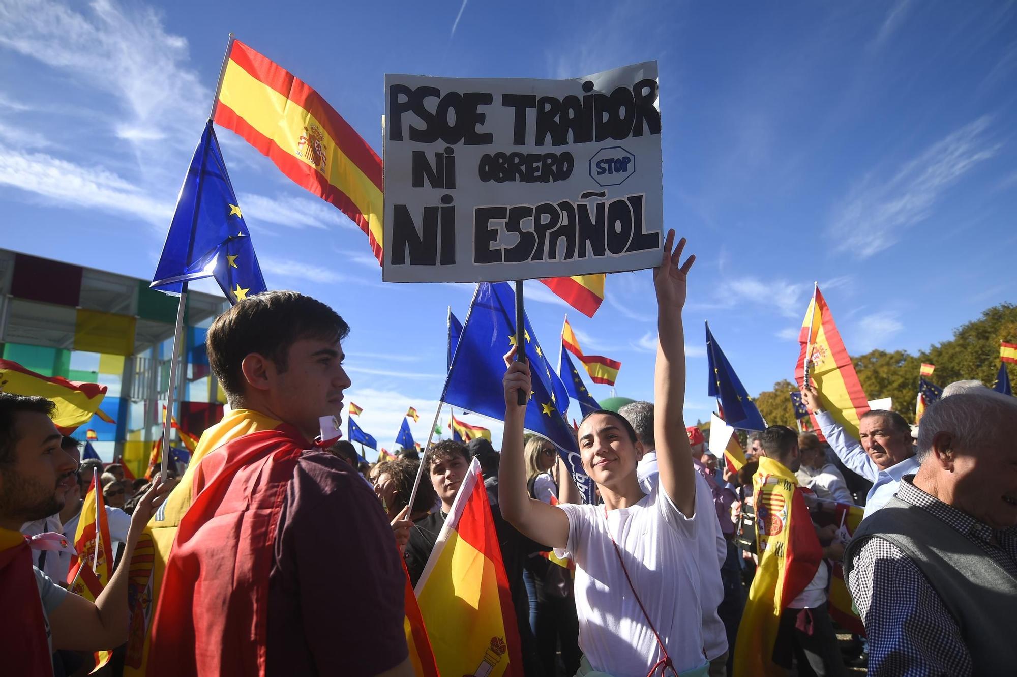
{"label": "large blue European Union flag directly below the placard", "polygon": [[[593,486],[583,470],[579,446],[565,421],[569,391],[551,369],[547,355],[524,315],[526,359],[530,363],[533,392],[526,409],[526,429],[554,442],[569,464],[587,502]],[[441,402],[492,419],[503,420],[505,403],[501,378],[502,356],[516,344],[516,294],[507,283],[477,285],[463,333],[441,392]]]}

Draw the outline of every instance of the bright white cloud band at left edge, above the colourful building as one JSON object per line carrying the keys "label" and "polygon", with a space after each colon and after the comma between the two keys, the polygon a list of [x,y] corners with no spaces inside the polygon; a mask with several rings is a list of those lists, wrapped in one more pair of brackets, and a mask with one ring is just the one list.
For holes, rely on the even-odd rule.
{"label": "bright white cloud band at left edge, above the colourful building", "polygon": [[0,185],[49,198],[60,206],[125,213],[163,229],[173,216],[172,203],[153,199],[138,186],[105,169],[2,145]]}

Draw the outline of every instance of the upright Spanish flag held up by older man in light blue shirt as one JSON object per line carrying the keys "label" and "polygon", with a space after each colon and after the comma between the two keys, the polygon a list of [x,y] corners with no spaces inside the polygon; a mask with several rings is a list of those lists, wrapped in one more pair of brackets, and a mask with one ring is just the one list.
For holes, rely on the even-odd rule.
{"label": "upright Spanish flag held up by older man in light blue shirt", "polygon": [[[851,357],[844,348],[844,342],[833,321],[833,314],[820,293],[819,286],[816,287],[805,311],[798,343],[801,345],[801,353],[794,367],[794,378],[798,385],[804,383],[807,358],[809,377],[822,395],[823,409],[830,413],[848,435],[858,439],[858,424],[862,414],[869,411],[869,399],[861,389]],[[819,430],[816,417],[810,415],[810,419],[813,429]]]}

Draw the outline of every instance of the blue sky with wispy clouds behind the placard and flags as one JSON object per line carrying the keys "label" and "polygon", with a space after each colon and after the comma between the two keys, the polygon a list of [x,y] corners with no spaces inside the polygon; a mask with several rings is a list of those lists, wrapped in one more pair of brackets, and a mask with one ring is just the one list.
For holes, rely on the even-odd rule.
{"label": "blue sky with wispy clouds behind the placard and flags", "polygon": [[[699,257],[685,416],[708,420],[704,320],[755,394],[791,377],[813,281],[853,354],[919,350],[1017,300],[1015,15],[1014,3],[909,0],[3,0],[0,246],[151,278],[230,30],[379,153],[385,72],[578,77],[657,59],[665,225]],[[414,406],[422,441],[445,308],[465,318],[470,288],[383,285],[351,222],[218,132],[268,286],[353,326],[347,401],[362,427],[387,446]],[[594,319],[570,313],[637,398],[652,396],[652,294],[648,271],[613,274]],[[528,304],[553,345],[569,309],[539,286]]]}

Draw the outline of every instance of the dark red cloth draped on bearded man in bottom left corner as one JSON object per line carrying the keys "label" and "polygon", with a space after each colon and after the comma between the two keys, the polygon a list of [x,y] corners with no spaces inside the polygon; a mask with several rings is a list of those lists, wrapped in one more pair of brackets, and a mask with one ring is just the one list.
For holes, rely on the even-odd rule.
{"label": "dark red cloth draped on bearded man in bottom left corner", "polygon": [[0,529],[0,600],[4,609],[17,610],[0,614],[4,674],[52,675],[48,628],[28,540],[7,529]]}

